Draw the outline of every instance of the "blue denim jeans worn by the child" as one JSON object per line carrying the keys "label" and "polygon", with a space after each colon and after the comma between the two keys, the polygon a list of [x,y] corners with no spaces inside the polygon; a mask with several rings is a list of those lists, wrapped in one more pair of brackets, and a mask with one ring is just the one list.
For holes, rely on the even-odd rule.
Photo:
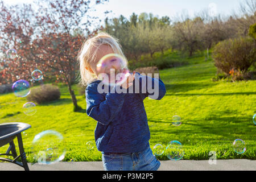
{"label": "blue denim jeans worn by the child", "polygon": [[102,154],[102,162],[105,171],[156,171],[160,167],[150,147],[141,152]]}

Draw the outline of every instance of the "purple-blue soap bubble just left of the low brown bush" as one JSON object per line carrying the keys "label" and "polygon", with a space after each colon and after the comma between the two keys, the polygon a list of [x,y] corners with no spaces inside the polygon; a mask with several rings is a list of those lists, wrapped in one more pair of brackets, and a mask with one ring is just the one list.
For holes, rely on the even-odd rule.
{"label": "purple-blue soap bubble just left of the low brown bush", "polygon": [[17,97],[26,97],[30,94],[30,84],[26,80],[18,80],[14,82],[12,89]]}

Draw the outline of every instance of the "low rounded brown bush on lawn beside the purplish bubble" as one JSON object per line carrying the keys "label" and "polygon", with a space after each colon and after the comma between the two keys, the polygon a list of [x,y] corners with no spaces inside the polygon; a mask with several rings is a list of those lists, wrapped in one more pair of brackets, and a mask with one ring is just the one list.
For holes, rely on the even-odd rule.
{"label": "low rounded brown bush on lawn beside the purplish bubble", "polygon": [[44,102],[54,101],[60,98],[60,90],[57,86],[51,84],[41,85],[37,88],[31,89],[27,100],[42,104]]}

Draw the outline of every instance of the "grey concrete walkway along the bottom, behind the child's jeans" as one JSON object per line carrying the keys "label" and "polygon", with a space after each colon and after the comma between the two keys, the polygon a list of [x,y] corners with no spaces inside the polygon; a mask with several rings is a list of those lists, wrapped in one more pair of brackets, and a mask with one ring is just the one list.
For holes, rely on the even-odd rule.
{"label": "grey concrete walkway along the bottom, behind the child's jeans", "polygon": [[[216,160],[209,164],[208,160],[162,160],[158,171],[256,171],[256,160],[229,159]],[[59,162],[55,164],[31,164],[31,171],[104,171],[102,162]],[[0,163],[0,171],[24,171],[22,167],[12,163]]]}

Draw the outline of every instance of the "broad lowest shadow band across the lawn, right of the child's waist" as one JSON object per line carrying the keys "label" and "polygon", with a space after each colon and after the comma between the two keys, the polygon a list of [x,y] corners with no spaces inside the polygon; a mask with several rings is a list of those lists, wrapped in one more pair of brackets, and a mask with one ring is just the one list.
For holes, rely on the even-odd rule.
{"label": "broad lowest shadow band across the lawn, right of the child's waist", "polygon": [[[243,139],[254,139],[254,132],[250,126],[253,126],[253,121],[250,116],[245,117],[234,117],[225,116],[224,113],[212,114],[207,118],[202,120],[198,119],[183,119],[180,126],[171,126],[171,119],[164,119],[166,121],[155,121],[155,119],[148,119],[150,122],[155,123],[170,123],[170,127],[158,126],[151,127],[151,133],[163,133],[167,135],[195,135],[199,134],[199,137],[204,135],[219,136],[223,140],[231,140],[233,142],[236,137],[241,137]],[[155,125],[154,125],[155,126]]]}

